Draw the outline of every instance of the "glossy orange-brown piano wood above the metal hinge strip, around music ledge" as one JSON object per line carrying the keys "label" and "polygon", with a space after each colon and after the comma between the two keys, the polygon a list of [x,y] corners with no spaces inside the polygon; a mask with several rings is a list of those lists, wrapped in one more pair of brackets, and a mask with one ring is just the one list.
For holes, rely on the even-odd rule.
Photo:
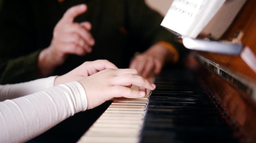
{"label": "glossy orange-brown piano wood above the metal hinge strip, around music ledge", "polygon": [[[236,16],[234,22],[231,24],[229,29],[222,36],[222,40],[228,40],[233,38],[235,33],[239,30],[243,31],[242,43],[248,46],[256,55],[256,1],[247,0],[241,11]],[[198,52],[204,57],[225,66],[233,71],[243,74],[249,78],[256,80],[256,73],[243,61],[238,55],[225,55],[215,54],[208,52]],[[256,63],[255,63],[256,65]]]}

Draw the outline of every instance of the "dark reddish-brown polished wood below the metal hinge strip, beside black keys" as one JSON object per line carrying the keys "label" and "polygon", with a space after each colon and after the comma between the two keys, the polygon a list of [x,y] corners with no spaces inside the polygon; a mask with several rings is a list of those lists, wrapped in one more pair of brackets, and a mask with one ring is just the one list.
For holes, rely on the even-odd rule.
{"label": "dark reddish-brown polished wood below the metal hinge strip, beside black keys", "polygon": [[196,56],[191,55],[187,65],[198,75],[202,87],[219,107],[240,143],[256,143],[255,100],[213,70],[209,70],[211,68],[202,64]]}

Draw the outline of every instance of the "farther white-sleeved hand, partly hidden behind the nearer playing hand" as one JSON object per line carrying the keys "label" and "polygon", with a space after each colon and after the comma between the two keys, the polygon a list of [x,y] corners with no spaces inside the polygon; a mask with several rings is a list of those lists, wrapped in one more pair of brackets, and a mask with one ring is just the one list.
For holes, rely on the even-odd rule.
{"label": "farther white-sleeved hand, partly hidden behind the nearer playing hand", "polygon": [[[86,61],[82,65],[68,72],[67,74],[56,77],[54,81],[54,86],[80,80],[84,77],[90,76],[107,68],[117,69],[117,67],[108,60]],[[98,82],[99,81],[100,80],[98,80]]]}

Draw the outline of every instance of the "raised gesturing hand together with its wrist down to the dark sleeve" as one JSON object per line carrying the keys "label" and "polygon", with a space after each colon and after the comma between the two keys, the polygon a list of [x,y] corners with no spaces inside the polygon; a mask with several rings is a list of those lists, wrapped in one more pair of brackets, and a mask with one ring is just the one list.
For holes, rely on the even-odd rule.
{"label": "raised gesturing hand together with its wrist down to the dark sleeve", "polygon": [[56,24],[53,39],[38,57],[39,76],[49,76],[55,67],[64,63],[69,54],[84,55],[92,51],[95,41],[90,33],[90,22],[76,23],[74,18],[87,10],[85,4],[73,6]]}

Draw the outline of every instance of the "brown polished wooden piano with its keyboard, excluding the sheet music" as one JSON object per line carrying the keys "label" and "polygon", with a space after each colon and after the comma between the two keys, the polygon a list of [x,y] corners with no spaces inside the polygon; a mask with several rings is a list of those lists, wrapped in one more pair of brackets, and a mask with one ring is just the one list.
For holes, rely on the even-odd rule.
{"label": "brown polished wooden piano with its keyboard, excluding the sheet music", "polygon": [[[251,54],[191,51],[141,99],[117,99],[78,143],[256,143],[256,1],[247,0],[222,39],[239,30]],[[255,67],[254,67],[255,66]]]}

